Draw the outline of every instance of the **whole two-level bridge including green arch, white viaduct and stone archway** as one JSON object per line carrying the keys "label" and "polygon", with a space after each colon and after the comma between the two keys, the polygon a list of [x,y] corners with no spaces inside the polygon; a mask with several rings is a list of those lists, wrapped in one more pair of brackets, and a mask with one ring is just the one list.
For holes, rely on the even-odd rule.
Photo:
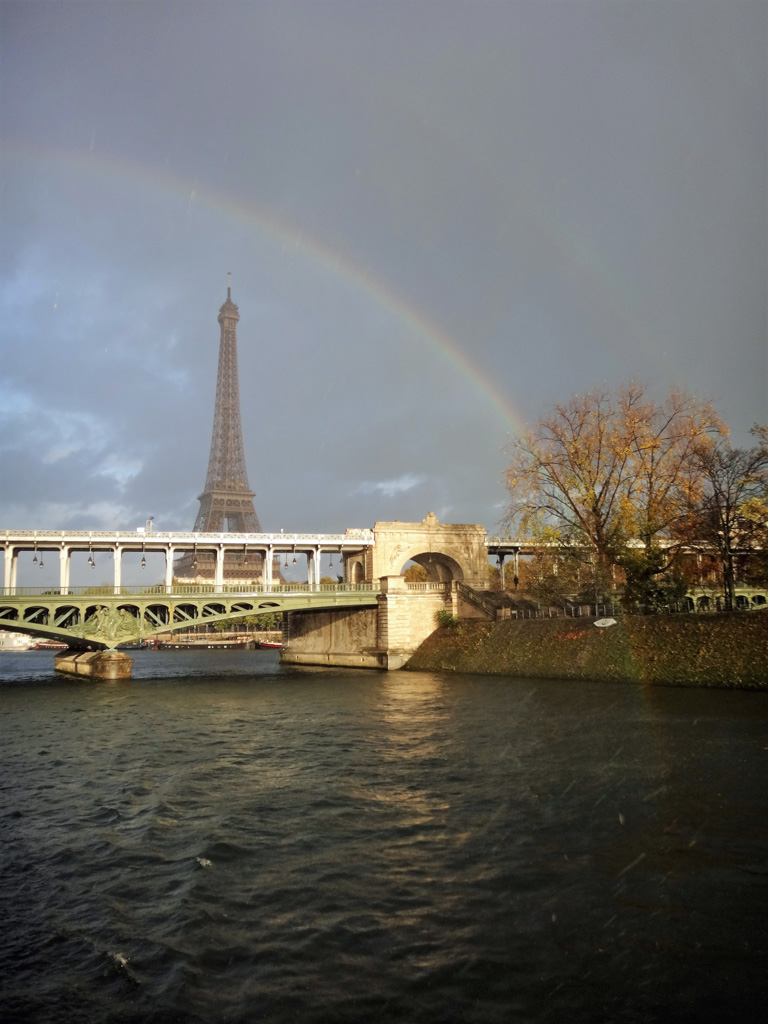
{"label": "whole two-level bridge including green arch, white viaduct and stone archway", "polygon": [[[508,550],[515,548],[525,550],[509,542]],[[439,523],[432,513],[419,523],[380,522],[373,529],[333,535],[4,530],[0,551],[0,629],[72,646],[114,648],[161,633],[278,611],[288,613],[284,659],[376,667],[401,664],[434,629],[435,611],[458,610],[460,585],[472,613],[480,613],[471,591],[487,586],[489,569],[484,527]],[[493,553],[497,551],[502,551],[498,544]],[[91,566],[94,554],[109,552],[113,585],[73,586],[76,552],[87,552]],[[148,554],[163,554],[163,583],[124,586],[123,557],[129,552],[134,558],[140,553],[141,564]],[[262,555],[260,580],[227,579],[232,554],[240,554],[245,565],[255,552]],[[174,575],[179,559],[196,565],[198,554],[207,555],[201,564],[212,566],[208,579]],[[306,557],[305,584],[278,579],[275,559],[279,565],[284,556],[295,560],[296,555]],[[326,555],[337,559],[338,583],[321,582]],[[58,562],[58,587],[18,586],[19,560],[40,564],[45,558]],[[411,561],[425,568],[426,583],[406,583],[401,573]]]}

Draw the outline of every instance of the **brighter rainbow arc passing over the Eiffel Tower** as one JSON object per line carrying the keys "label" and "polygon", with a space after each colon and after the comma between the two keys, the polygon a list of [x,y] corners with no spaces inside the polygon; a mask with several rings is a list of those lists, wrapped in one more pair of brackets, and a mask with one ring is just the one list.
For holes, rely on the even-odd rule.
{"label": "brighter rainbow arc passing over the Eiffel Tower", "polygon": [[455,338],[358,263],[353,263],[342,253],[330,249],[321,240],[308,234],[297,225],[279,220],[269,210],[207,185],[202,188],[197,181],[184,179],[163,168],[151,167],[125,158],[118,160],[93,148],[89,151],[52,148],[27,141],[6,139],[4,157],[20,162],[58,163],[74,167],[78,171],[103,174],[112,179],[125,179],[132,183],[138,182],[145,187],[176,196],[186,195],[191,197],[190,202],[201,202],[204,206],[236,219],[239,224],[245,221],[282,245],[300,250],[310,260],[322,265],[326,272],[343,279],[412,329],[440,359],[482,395],[507,433],[517,433],[522,428],[522,418],[515,411],[509,397],[496,381],[480,373],[470,355]]}

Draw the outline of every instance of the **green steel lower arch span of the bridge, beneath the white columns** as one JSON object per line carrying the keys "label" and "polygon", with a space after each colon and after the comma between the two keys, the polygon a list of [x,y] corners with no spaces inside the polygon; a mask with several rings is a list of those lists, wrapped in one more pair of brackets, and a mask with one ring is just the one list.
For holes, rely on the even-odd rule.
{"label": "green steel lower arch span of the bridge, beneath the white columns", "polygon": [[0,592],[0,629],[114,647],[224,618],[376,605],[378,584],[16,587]]}

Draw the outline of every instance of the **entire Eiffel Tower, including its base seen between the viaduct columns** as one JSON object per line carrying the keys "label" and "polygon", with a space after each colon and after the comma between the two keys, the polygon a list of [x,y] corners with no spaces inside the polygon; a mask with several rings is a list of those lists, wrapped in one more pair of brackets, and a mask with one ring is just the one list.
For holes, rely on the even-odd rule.
{"label": "entire Eiffel Tower, including its base seen between the viaduct columns", "polygon": [[[221,327],[219,366],[216,378],[216,408],[213,414],[213,437],[208,459],[208,474],[203,494],[198,496],[200,511],[195,532],[260,534],[254,493],[248,484],[243,424],[240,418],[240,381],[238,377],[238,322],[240,312],[232,302],[231,274],[227,274],[226,299],[219,309]],[[224,579],[255,581],[263,572],[262,557],[244,547],[243,554],[227,553]],[[175,565],[177,580],[214,578],[212,552],[185,554]]]}

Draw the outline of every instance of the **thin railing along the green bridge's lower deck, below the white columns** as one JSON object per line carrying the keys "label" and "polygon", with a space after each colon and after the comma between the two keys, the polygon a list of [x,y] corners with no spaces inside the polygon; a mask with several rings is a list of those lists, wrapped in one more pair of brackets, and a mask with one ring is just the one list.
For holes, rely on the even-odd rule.
{"label": "thin railing along the green bridge's lower deck, below the white columns", "polygon": [[274,584],[177,584],[166,587],[155,586],[124,587],[0,587],[0,597],[201,597],[208,594],[228,596],[323,594],[323,593],[371,593],[379,590],[378,583],[274,583]]}

